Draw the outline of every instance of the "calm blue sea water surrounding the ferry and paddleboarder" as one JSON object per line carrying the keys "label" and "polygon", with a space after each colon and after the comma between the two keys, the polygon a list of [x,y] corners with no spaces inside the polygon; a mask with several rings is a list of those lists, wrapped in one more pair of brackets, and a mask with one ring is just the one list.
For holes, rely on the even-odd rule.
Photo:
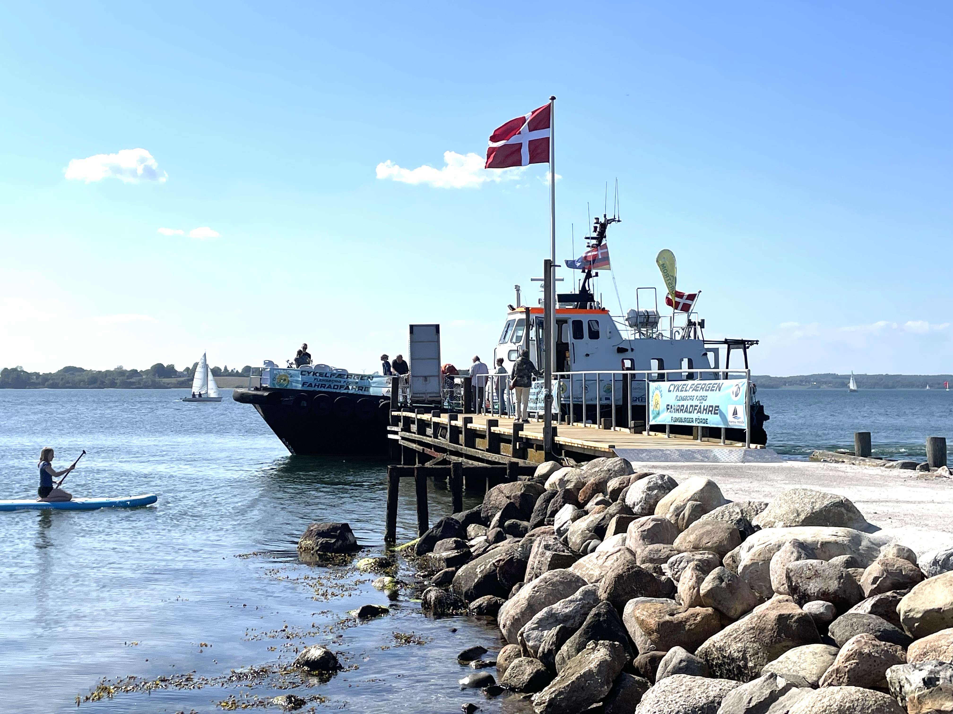
{"label": "calm blue sea water surrounding the ferry and paddleboarder", "polygon": [[[356,625],[348,610],[388,602],[370,585],[376,575],[297,562],[297,538],[321,520],[350,522],[370,545],[364,554],[382,552],[382,463],[290,457],[251,407],[176,401],[185,393],[0,390],[5,497],[35,494],[42,446],[56,449],[60,468],[87,450],[66,484],[77,496],[159,496],[135,510],[0,513],[0,710],[72,711],[78,695],[84,711],[213,712],[298,684],[291,691],[327,699],[319,710],[519,708],[456,687],[472,671],[456,653],[496,649],[493,626],[425,618],[411,588],[391,615]],[[850,446],[860,429],[873,432],[883,455],[922,456],[928,434],[953,439],[945,392],[764,389],[759,397],[772,446],[793,458]],[[450,512],[450,498],[431,488],[433,521]],[[399,507],[402,541],[415,535],[410,490]],[[467,497],[467,506],[477,502]],[[399,574],[413,582],[406,565]],[[341,652],[346,671],[327,683],[283,671],[296,647],[314,644]],[[82,702],[103,678],[191,672],[192,684]]]}

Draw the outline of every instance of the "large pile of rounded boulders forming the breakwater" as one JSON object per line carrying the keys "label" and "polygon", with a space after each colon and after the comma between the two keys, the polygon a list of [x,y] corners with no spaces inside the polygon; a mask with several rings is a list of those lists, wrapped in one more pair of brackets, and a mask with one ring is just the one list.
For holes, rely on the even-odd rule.
{"label": "large pile of rounded boulders forming the breakwater", "polygon": [[951,711],[953,549],[921,569],[878,530],[836,494],[731,502],[616,458],[496,486],[416,554],[425,610],[497,619],[485,693],[538,714]]}

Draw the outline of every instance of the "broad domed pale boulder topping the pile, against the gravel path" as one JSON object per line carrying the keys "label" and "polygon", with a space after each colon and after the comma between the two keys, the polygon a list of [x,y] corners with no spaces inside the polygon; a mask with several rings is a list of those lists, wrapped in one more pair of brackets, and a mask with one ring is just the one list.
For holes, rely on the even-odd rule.
{"label": "broad domed pale boulder topping the pile, against the gravel path", "polygon": [[827,526],[866,532],[877,530],[867,523],[850,499],[810,488],[791,488],[775,496],[751,523],[760,528]]}

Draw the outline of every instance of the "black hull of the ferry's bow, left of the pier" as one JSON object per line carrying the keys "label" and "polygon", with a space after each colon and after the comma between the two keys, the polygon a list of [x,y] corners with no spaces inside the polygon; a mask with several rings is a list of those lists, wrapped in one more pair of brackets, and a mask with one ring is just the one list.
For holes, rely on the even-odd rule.
{"label": "black hull of the ferry's bow, left of the pier", "polygon": [[387,456],[390,397],[264,387],[232,398],[253,405],[293,454]]}

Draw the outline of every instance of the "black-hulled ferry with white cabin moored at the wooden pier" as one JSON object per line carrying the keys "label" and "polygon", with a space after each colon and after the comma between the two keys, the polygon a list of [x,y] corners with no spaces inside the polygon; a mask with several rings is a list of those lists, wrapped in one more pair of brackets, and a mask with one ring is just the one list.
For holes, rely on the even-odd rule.
{"label": "black-hulled ferry with white cabin moored at the wooden pier", "polygon": [[[604,243],[606,230],[617,222],[616,218],[603,216],[596,219],[592,246]],[[642,420],[644,426],[646,406],[645,375],[634,375],[625,380],[620,370],[650,370],[661,381],[727,379],[730,370],[748,368],[748,349],[758,340],[722,339],[709,340],[704,336],[705,321],[698,313],[678,311],[673,306],[671,316],[662,315],[656,298],[656,288],[639,288],[637,306],[624,316],[613,316],[596,298],[593,278],[598,272],[587,269],[582,273],[575,292],[558,294],[555,311],[556,364],[554,375],[555,407],[563,421],[598,424],[600,418],[615,414],[618,423],[635,424]],[[651,297],[650,297],[651,296]],[[648,303],[646,304],[646,300]],[[494,348],[494,363],[501,358],[508,373],[512,373],[521,349],[529,349],[537,367],[543,363],[545,330],[543,307],[519,305],[507,306],[497,346]],[[541,301],[540,301],[541,302]],[[433,409],[450,406],[449,385],[439,371],[439,326],[432,329],[429,337],[433,342],[436,332],[436,353],[432,348],[415,359],[414,327],[411,327],[410,356],[413,379],[408,393],[401,402],[408,407]],[[417,330],[418,332],[420,330]],[[483,350],[477,350],[483,351]],[[724,352],[724,365],[720,365],[720,353]],[[732,366],[733,353],[740,352],[742,365]],[[737,360],[736,360],[737,362]],[[426,366],[426,367],[425,367]],[[680,370],[679,373],[664,370]],[[707,370],[707,371],[705,371]],[[572,372],[574,374],[560,374]],[[590,378],[578,372],[593,373]],[[613,372],[612,376],[598,378],[599,373]],[[492,375],[491,375],[492,377]],[[415,389],[427,383],[424,389]],[[625,383],[628,387],[623,387]],[[439,385],[434,389],[434,385]],[[530,413],[540,416],[543,403],[542,380],[537,380],[531,389]],[[401,387],[403,388],[403,387]],[[459,386],[457,385],[458,389]],[[763,407],[753,399],[756,387],[751,385],[749,397],[749,431],[752,444],[766,444],[764,422],[769,417]],[[491,389],[493,391],[493,389]],[[592,392],[595,391],[598,397]],[[626,395],[628,399],[623,397]],[[387,426],[390,424],[391,377],[380,374],[357,374],[346,369],[316,365],[308,367],[277,367],[266,362],[262,368],[261,384],[258,387],[233,390],[236,402],[250,404],[271,426],[293,454],[360,454],[386,456],[388,454]],[[623,406],[629,402],[628,411]],[[450,407],[459,410],[458,407]],[[665,426],[653,426],[664,431]],[[718,436],[714,428],[671,425],[670,433]],[[701,433],[694,431],[701,429]],[[726,428],[725,438],[744,443],[743,428]]]}

